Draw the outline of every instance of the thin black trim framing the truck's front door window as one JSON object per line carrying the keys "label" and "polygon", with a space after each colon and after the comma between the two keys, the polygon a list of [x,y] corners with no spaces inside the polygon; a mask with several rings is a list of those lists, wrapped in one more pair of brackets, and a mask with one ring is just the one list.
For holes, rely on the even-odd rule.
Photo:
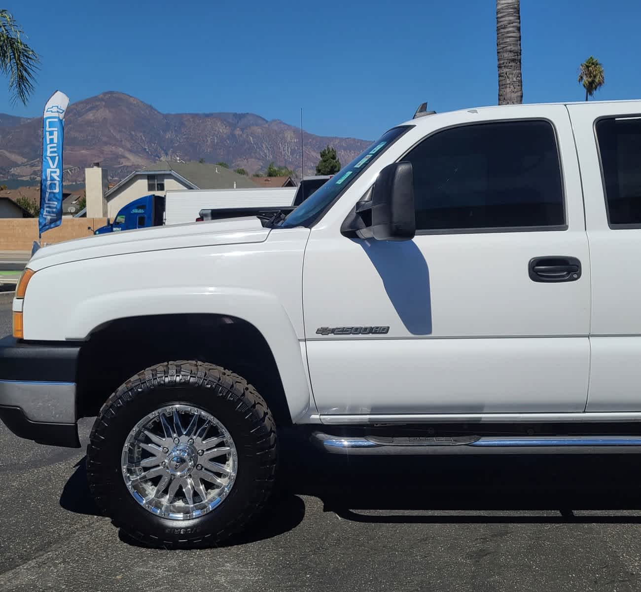
{"label": "thin black trim framing the truck's front door window", "polygon": [[401,156],[401,158],[399,158],[397,162],[402,162],[404,158],[406,158],[407,155],[413,149],[419,146],[419,144],[422,144],[422,142],[425,142],[426,140],[433,137],[434,135],[437,135],[437,133],[441,133],[443,131],[449,131],[456,128],[463,128],[463,127],[469,127],[469,126],[490,125],[493,123],[513,123],[513,122],[523,123],[526,121],[544,121],[545,123],[551,126],[552,131],[554,133],[554,145],[556,146],[556,158],[558,160],[559,173],[561,175],[561,199],[563,202],[563,222],[564,223],[554,224],[553,226],[495,226],[495,227],[487,226],[483,228],[438,228],[435,230],[423,230],[423,229],[417,228],[416,229],[417,235],[495,234],[495,233],[502,233],[502,232],[563,232],[565,230],[569,230],[569,224],[567,219],[568,216],[567,216],[567,194],[565,190],[565,174],[563,173],[563,160],[561,158],[561,151],[559,149],[558,130],[556,129],[554,122],[551,119],[548,119],[547,117],[523,117],[523,118],[506,117],[504,119],[487,119],[485,121],[467,121],[464,123],[451,124],[449,126],[445,126],[444,128],[438,128],[438,130],[433,130],[430,133],[428,133],[428,135],[422,137],[420,140],[418,140],[412,146],[410,146],[410,148],[408,148],[403,153],[403,156]]}

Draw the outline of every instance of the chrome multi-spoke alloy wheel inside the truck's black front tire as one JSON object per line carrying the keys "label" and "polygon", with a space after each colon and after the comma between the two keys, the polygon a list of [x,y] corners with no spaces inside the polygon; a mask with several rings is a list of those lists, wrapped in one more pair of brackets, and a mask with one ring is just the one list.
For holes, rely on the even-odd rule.
{"label": "chrome multi-spoke alloy wheel inside the truck's black front tire", "polygon": [[233,487],[238,454],[229,432],[191,405],[168,405],[142,418],[122,447],[122,476],[149,512],[188,520],[211,512]]}

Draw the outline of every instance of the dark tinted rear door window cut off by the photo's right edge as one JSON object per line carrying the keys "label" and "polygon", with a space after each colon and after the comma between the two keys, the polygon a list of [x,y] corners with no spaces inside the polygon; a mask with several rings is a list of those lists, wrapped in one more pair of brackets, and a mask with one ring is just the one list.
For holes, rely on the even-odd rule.
{"label": "dark tinted rear door window cut off by the photo's right edge", "polygon": [[596,124],[610,226],[641,224],[641,117]]}

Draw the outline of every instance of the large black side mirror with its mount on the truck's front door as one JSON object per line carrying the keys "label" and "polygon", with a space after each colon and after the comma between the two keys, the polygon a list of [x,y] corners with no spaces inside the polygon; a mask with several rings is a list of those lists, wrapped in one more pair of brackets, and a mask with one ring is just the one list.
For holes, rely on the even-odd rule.
{"label": "large black side mirror with its mount on the truck's front door", "polygon": [[340,230],[347,237],[411,241],[416,233],[412,163],[395,162],[381,169]]}

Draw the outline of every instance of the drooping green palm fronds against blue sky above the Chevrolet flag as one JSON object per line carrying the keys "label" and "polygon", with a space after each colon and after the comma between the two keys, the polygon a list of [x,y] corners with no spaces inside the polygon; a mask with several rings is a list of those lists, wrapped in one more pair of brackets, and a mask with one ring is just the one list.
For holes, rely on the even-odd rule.
{"label": "drooping green palm fronds against blue sky above the Chevrolet flag", "polygon": [[12,100],[20,99],[26,105],[29,95],[33,92],[35,72],[40,58],[21,36],[21,27],[12,13],[0,8],[0,72],[9,78],[9,90]]}

